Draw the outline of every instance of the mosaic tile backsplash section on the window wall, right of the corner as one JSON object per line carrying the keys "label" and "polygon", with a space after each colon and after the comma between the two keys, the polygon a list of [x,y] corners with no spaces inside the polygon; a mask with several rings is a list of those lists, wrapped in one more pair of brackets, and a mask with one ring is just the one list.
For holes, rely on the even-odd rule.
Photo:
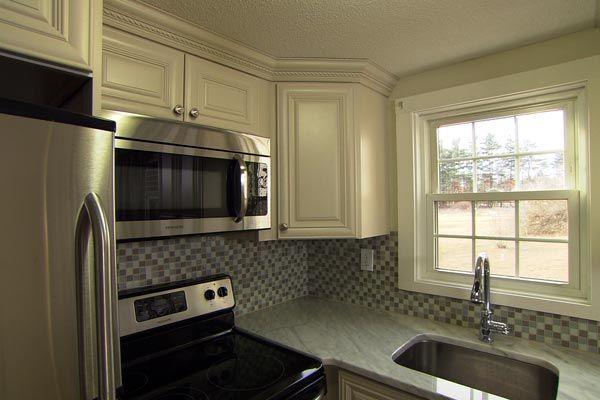
{"label": "mosaic tile backsplash section on the window wall, right of the corner", "polygon": [[[480,306],[467,300],[408,292],[396,287],[398,236],[363,240],[315,240],[308,244],[309,295],[399,312],[476,329]],[[362,271],[360,249],[375,250],[373,272]],[[516,337],[600,353],[597,321],[494,306]]]}

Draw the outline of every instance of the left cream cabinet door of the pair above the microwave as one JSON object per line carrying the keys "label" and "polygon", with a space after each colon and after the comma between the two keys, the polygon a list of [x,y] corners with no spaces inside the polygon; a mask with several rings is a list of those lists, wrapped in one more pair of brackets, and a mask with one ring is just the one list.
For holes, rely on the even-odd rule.
{"label": "left cream cabinet door of the pair above the microwave", "polygon": [[184,54],[105,26],[102,108],[183,121]]}

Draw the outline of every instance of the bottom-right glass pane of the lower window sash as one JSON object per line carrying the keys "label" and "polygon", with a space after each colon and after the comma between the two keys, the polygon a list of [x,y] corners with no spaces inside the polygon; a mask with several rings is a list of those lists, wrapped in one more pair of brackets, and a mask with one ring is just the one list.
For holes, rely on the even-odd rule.
{"label": "bottom-right glass pane of the lower window sash", "polygon": [[520,242],[519,275],[523,278],[568,282],[568,244]]}

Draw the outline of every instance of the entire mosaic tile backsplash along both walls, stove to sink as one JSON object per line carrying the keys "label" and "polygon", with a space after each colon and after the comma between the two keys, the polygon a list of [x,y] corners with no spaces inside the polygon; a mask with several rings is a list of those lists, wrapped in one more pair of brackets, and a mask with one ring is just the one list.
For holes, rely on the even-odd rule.
{"label": "entire mosaic tile backsplash along both walls, stove to sink", "polygon": [[[360,249],[375,250],[373,272],[359,268]],[[476,328],[479,307],[466,300],[396,287],[398,237],[352,240],[253,242],[226,236],[192,236],[117,245],[119,288],[228,273],[238,314],[306,295]],[[495,306],[514,335],[600,353],[597,321]]]}

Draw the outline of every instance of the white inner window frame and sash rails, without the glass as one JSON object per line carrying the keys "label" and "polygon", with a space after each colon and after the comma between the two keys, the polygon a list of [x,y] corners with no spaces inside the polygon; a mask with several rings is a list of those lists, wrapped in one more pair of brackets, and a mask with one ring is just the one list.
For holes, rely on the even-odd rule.
{"label": "white inner window frame and sash rails, without the glass", "polygon": [[[564,100],[554,101],[556,100],[556,93],[553,94],[542,94],[536,95],[532,93],[532,97],[536,100],[539,100],[540,103],[535,106],[523,106],[523,99],[516,99],[512,101],[505,101],[498,104],[498,108],[496,109],[487,109],[484,113],[474,114],[465,114],[463,111],[467,111],[468,109],[477,109],[477,106],[468,107],[467,109],[460,110],[460,116],[452,116],[450,118],[440,118],[435,119],[436,114],[432,113],[427,117],[427,123],[429,127],[427,129],[426,134],[429,134],[429,148],[423,149],[424,151],[429,152],[429,158],[431,160],[429,182],[426,182],[426,198],[427,198],[427,255],[426,255],[426,264],[425,270],[422,271],[422,279],[427,279],[431,282],[436,282],[439,284],[444,283],[453,283],[453,284],[465,284],[472,280],[472,276],[467,276],[468,274],[465,272],[459,271],[449,271],[449,270],[438,270],[435,268],[436,260],[436,246],[435,246],[435,238],[437,234],[435,233],[435,225],[436,225],[436,215],[435,215],[435,201],[519,201],[519,200],[567,200],[568,204],[568,215],[569,215],[569,237],[567,239],[568,248],[569,248],[569,279],[568,283],[560,283],[560,282],[543,282],[540,280],[533,279],[525,279],[525,278],[515,278],[515,277],[505,277],[505,276],[497,276],[494,282],[494,286],[497,289],[504,289],[508,291],[523,291],[527,290],[531,294],[537,294],[541,296],[566,296],[566,297],[581,297],[581,287],[582,281],[587,280],[587,276],[585,274],[581,274],[580,271],[580,263],[579,263],[579,171],[578,168],[575,167],[576,158],[576,133],[575,133],[575,102],[577,98],[577,89],[575,90],[566,90],[564,92],[560,92],[559,95],[564,96]],[[527,99],[528,100],[528,99]],[[489,107],[493,107],[490,105]],[[523,113],[533,113],[533,112],[543,112],[543,111],[551,111],[551,110],[562,110],[564,111],[565,116],[565,148],[564,148],[564,172],[565,172],[565,186],[569,190],[544,190],[544,191],[513,191],[513,192],[494,192],[494,193],[438,193],[438,159],[437,159],[437,149],[438,149],[438,141],[437,141],[437,129],[442,125],[448,125],[451,123],[461,123],[461,122],[470,122],[477,121],[489,118],[501,118],[508,115],[519,115]],[[475,143],[473,143],[475,146]],[[562,149],[561,149],[562,150]],[[555,149],[554,152],[558,151]],[[539,153],[539,152],[535,152]],[[547,153],[547,152],[544,152]],[[515,152],[515,155],[517,152]],[[519,152],[519,155],[530,155],[532,152]],[[487,156],[486,156],[487,157]],[[500,157],[500,156],[489,156],[492,157]],[[470,157],[469,159],[477,158],[475,155]],[[515,168],[518,168],[518,162],[515,165]],[[427,178],[427,177],[425,177]],[[477,182],[473,181],[473,190],[477,189]],[[472,224],[475,224],[474,207],[471,208],[472,212]],[[518,207],[515,210],[515,213],[518,213]],[[515,215],[515,218],[518,218],[518,214]],[[475,244],[475,228],[472,227],[470,235],[444,235],[441,234],[442,237],[455,237],[455,238],[465,238],[471,239],[473,241],[472,245]],[[478,237],[479,239],[492,239],[492,240],[503,240],[505,238],[500,237]],[[511,240],[511,239],[507,239]],[[519,230],[518,227],[515,226],[515,242],[519,241]],[[552,242],[552,239],[527,239],[529,241],[539,241],[539,242]],[[518,245],[517,245],[518,246]],[[490,260],[492,267],[494,266],[494,260]],[[518,268],[518,260],[517,268]],[[585,272],[585,271],[584,271]],[[493,274],[493,268],[492,268]]]}

